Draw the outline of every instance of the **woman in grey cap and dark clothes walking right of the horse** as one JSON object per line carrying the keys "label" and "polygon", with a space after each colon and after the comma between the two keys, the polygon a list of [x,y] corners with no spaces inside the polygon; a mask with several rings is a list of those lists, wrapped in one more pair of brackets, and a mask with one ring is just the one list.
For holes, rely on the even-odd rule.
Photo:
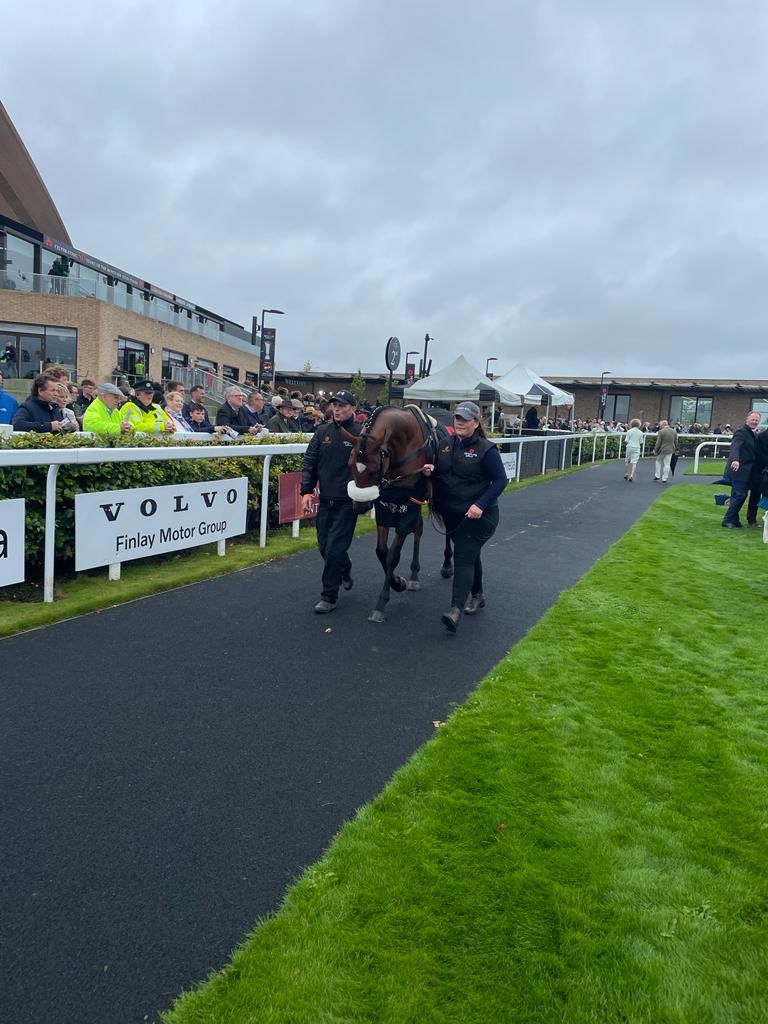
{"label": "woman in grey cap and dark clothes walking right of the horse", "polygon": [[[437,454],[435,507],[454,542],[454,587],[451,608],[441,622],[456,633],[463,613],[485,606],[482,593],[482,546],[499,525],[499,495],[507,473],[499,450],[480,426],[480,410],[473,401],[460,402],[454,414],[453,437]],[[427,473],[433,467],[425,467]]]}

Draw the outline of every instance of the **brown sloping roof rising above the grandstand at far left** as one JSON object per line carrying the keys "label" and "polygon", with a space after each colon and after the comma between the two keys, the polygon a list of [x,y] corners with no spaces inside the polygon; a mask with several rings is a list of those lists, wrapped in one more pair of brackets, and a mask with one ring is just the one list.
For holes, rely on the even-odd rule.
{"label": "brown sloping roof rising above the grandstand at far left", "polygon": [[1,102],[0,213],[72,245],[55,203]]}

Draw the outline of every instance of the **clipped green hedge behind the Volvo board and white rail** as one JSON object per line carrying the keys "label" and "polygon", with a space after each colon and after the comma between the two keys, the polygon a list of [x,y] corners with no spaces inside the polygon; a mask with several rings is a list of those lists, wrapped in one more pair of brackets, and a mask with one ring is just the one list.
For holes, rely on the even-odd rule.
{"label": "clipped green hedge behind the Volvo board and white rail", "polygon": [[[309,438],[297,436],[297,441]],[[129,439],[84,437],[78,434],[63,437],[53,434],[11,436],[0,441],[0,451],[9,449],[106,449],[106,447],[179,447],[195,442],[169,440],[153,434],[132,435]],[[259,440],[243,438],[242,443],[257,447],[274,443],[273,438]],[[228,446],[211,441],[211,447]],[[278,476],[301,469],[300,455],[273,456],[269,466],[270,501],[269,526],[278,525]],[[39,577],[43,566],[45,542],[45,481],[47,466],[0,467],[0,498],[27,500],[27,573]],[[170,483],[194,483],[197,480],[220,480],[228,477],[248,478],[248,528],[258,526],[261,503],[262,459],[231,457],[223,459],[189,459],[179,462],[123,462],[101,465],[61,466],[56,481],[56,548],[59,570],[74,568],[75,560],[75,495],[92,490],[119,490],[126,487],[151,487]]]}

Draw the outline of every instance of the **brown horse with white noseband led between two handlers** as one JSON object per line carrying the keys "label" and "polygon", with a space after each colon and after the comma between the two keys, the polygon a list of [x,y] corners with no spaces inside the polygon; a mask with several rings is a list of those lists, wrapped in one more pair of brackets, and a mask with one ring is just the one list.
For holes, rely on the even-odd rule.
{"label": "brown horse with white noseband led between two handlers", "polygon": [[[369,615],[372,623],[384,622],[384,609],[390,589],[396,593],[419,590],[419,547],[424,520],[421,510],[429,498],[429,483],[422,473],[436,458],[434,429],[416,406],[394,409],[383,406],[374,410],[362,432],[354,437],[349,456],[352,479],[347,485],[355,502],[374,502],[376,508],[376,556],[384,569],[384,586],[376,608]],[[394,540],[389,545],[389,530]],[[411,579],[395,574],[406,538],[414,535]]]}

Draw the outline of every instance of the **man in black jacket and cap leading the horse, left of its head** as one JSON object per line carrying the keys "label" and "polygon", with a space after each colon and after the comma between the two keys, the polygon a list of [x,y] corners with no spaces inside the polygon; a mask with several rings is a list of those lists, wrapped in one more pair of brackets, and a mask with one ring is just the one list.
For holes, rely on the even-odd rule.
{"label": "man in black jacket and cap leading the horse, left of its head", "polygon": [[[349,545],[354,537],[357,514],[347,494],[347,483],[352,479],[349,454],[352,441],[362,429],[355,420],[355,399],[350,391],[339,391],[331,399],[333,419],[312,434],[304,453],[301,473],[301,510],[303,514],[312,507],[312,492],[319,483],[317,509],[317,547],[323,557],[323,591],[314,606],[318,615],[336,608],[339,589],[352,589],[352,563]],[[347,437],[344,436],[346,432]]]}

